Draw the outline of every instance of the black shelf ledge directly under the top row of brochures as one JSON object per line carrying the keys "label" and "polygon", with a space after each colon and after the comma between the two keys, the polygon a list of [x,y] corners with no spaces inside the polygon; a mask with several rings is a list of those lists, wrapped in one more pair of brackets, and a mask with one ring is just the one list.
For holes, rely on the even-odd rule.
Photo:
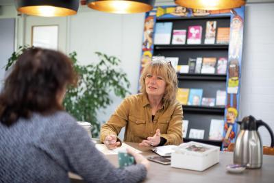
{"label": "black shelf ledge directly under the top row of brochures", "polygon": [[154,45],[154,49],[228,49],[228,45]]}

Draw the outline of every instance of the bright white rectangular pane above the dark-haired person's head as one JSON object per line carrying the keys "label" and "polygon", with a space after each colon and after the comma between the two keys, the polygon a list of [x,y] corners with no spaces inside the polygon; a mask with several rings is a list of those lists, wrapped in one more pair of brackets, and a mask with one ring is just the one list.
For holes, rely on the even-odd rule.
{"label": "bright white rectangular pane above the dark-haired person's head", "polygon": [[58,49],[58,25],[32,26],[32,46]]}

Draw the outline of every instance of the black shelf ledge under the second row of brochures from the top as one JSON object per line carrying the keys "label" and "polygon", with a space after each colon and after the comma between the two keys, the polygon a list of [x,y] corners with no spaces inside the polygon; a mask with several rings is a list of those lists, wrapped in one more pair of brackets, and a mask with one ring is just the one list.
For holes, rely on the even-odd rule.
{"label": "black shelf ledge under the second row of brochures from the top", "polygon": [[207,80],[207,81],[226,81],[227,75],[222,74],[199,74],[199,73],[178,73],[178,80]]}

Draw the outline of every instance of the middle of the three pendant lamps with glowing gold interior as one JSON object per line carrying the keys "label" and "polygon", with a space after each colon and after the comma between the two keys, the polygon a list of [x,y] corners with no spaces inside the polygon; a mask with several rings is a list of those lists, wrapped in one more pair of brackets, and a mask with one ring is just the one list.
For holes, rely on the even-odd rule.
{"label": "middle of the three pendant lamps with glowing gold interior", "polygon": [[155,0],[87,0],[89,8],[102,12],[129,14],[149,12]]}

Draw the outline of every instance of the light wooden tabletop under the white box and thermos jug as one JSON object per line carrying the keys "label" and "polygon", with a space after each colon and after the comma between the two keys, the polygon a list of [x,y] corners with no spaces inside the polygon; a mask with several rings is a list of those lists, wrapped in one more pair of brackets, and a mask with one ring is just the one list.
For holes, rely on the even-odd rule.
{"label": "light wooden tabletop under the white box and thermos jug", "polygon": [[[142,151],[142,155],[145,157],[155,155],[150,148],[139,147],[138,143],[127,144]],[[106,158],[108,158],[114,166],[118,167],[117,155],[106,155]],[[228,173],[225,169],[227,164],[233,164],[232,152],[221,151],[220,162],[205,171],[176,169],[172,168],[170,164],[163,165],[157,162],[151,162],[147,179],[144,182],[274,182],[274,156],[264,155],[261,169],[246,169],[242,173]],[[72,182],[81,179],[72,173],[69,173],[69,177]]]}

